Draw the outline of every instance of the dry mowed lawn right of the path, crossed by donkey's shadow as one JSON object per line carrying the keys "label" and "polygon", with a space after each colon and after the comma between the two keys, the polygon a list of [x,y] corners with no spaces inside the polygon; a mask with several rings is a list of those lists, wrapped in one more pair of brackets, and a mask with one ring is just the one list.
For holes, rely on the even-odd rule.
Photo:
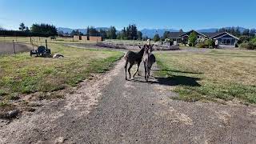
{"label": "dry mowed lawn right of the path, crossed by donkey's shadow", "polygon": [[157,59],[156,74],[174,86],[178,99],[256,103],[256,51],[157,54]]}

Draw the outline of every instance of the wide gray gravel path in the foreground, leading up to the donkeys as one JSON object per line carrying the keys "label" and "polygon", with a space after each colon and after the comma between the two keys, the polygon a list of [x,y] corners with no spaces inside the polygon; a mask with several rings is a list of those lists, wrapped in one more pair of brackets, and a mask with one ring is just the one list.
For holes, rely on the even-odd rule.
{"label": "wide gray gravel path in the foreground, leading up to the donkeys", "polygon": [[0,120],[0,143],[256,142],[255,107],[173,101],[157,79],[125,81],[123,66],[14,122]]}

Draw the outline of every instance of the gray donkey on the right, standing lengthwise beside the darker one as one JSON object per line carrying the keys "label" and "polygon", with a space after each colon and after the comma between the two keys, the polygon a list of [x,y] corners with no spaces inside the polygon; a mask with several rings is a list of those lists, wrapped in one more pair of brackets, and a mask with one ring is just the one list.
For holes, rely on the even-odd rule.
{"label": "gray donkey on the right, standing lengthwise beside the darker one", "polygon": [[147,45],[144,50],[143,54],[143,62],[144,62],[144,69],[145,69],[145,78],[146,82],[148,82],[148,79],[150,77],[150,70],[155,62],[154,54],[151,52],[153,51],[154,45]]}

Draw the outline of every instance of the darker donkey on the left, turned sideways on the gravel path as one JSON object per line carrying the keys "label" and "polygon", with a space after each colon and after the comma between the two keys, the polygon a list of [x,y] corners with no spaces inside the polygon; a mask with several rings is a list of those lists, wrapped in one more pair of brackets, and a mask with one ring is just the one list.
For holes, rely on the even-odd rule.
{"label": "darker donkey on the left, turned sideways on the gravel path", "polygon": [[[145,51],[145,45],[143,47],[138,46],[141,50],[139,50],[138,52],[134,52],[134,51],[128,51],[126,53],[126,55],[124,56],[125,60],[126,60],[126,66],[125,66],[125,70],[127,73],[127,65],[128,63],[130,63],[129,68],[128,68],[128,73],[129,73],[129,78],[130,78],[130,69],[132,66],[134,66],[134,64],[137,64],[137,70],[134,74],[134,76],[138,73],[138,68],[139,65],[142,62],[142,57]],[[139,74],[138,74],[139,75]],[[127,80],[127,74],[126,74],[126,80]]]}

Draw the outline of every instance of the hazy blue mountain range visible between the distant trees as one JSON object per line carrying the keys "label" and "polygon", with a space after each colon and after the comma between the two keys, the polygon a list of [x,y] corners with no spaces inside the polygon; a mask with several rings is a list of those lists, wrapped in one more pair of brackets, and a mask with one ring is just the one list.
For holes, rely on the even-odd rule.
{"label": "hazy blue mountain range visible between the distant trees", "polygon": [[[225,28],[230,29],[231,27],[225,27]],[[243,28],[243,27],[238,27],[238,28],[241,32],[243,30],[246,30],[246,28]],[[96,30],[100,30],[100,29],[108,30],[108,27],[96,27],[95,29]],[[65,28],[65,27],[58,27],[57,30],[63,31],[64,33],[69,33],[69,34],[72,32],[72,30],[78,30],[82,34],[86,34],[86,29],[70,29],[70,28]],[[197,31],[213,33],[213,32],[216,32],[216,30],[218,30],[218,28],[201,29],[201,30],[197,30]],[[159,36],[162,37],[162,35],[164,34],[165,31],[178,32],[178,30],[175,30],[175,29],[142,29],[140,31],[142,32],[143,36],[147,36],[149,38],[153,38],[154,34],[159,34]]]}

